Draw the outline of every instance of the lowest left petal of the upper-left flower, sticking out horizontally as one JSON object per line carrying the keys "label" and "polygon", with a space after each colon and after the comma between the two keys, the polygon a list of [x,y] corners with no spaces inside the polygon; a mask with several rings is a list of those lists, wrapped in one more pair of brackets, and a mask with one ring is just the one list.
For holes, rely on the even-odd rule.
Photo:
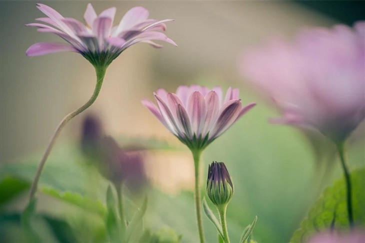
{"label": "lowest left petal of the upper-left flower, sticking out horizontally", "polygon": [[75,51],[77,49],[66,43],[59,42],[38,42],[31,45],[26,51],[28,56],[45,55],[50,53],[62,52],[62,51]]}

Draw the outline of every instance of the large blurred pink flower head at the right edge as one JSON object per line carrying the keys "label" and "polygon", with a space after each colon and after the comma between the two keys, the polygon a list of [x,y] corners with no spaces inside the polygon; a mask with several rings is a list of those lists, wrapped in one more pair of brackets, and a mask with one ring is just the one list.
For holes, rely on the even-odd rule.
{"label": "large blurred pink flower head at the right edge", "polygon": [[365,21],[305,29],[293,43],[274,39],[247,51],[239,67],[281,111],[273,122],[340,142],[365,117]]}

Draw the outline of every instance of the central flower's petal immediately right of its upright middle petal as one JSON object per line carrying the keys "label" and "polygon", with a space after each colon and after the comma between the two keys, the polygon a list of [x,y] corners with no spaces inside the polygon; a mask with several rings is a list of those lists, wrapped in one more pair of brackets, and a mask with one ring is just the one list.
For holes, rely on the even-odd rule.
{"label": "central flower's petal immediately right of its upright middle petal", "polygon": [[211,127],[215,124],[219,112],[219,97],[215,91],[208,92],[204,101],[206,104],[206,117],[203,134],[206,134]]}

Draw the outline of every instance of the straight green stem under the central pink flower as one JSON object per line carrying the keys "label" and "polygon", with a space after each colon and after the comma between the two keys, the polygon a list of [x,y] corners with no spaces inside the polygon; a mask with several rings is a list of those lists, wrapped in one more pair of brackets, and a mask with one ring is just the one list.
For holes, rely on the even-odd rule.
{"label": "straight green stem under the central pink flower", "polygon": [[191,149],[192,156],[194,158],[195,168],[195,211],[196,211],[196,222],[199,231],[200,243],[204,243],[204,229],[201,216],[201,199],[200,199],[200,188],[199,188],[199,161],[201,149]]}

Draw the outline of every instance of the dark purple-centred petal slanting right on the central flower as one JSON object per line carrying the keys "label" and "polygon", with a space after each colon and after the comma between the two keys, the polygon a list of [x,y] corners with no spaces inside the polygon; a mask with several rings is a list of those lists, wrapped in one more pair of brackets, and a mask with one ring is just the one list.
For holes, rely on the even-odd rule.
{"label": "dark purple-centred petal slanting right on the central flower", "polygon": [[218,119],[216,120],[213,129],[209,132],[209,138],[212,139],[217,137],[228,129],[239,115],[241,107],[242,104],[239,99],[232,99],[223,104],[220,108]]}

